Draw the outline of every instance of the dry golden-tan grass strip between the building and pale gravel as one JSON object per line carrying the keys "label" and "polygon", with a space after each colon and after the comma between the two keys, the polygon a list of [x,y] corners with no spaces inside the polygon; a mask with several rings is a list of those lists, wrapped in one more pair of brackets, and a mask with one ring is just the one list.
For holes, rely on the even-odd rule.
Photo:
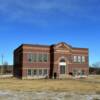
{"label": "dry golden-tan grass strip between the building and pale gravel", "polygon": [[57,92],[96,92],[100,94],[100,76],[87,79],[66,80],[19,80],[0,79],[0,90],[13,91],[57,91]]}

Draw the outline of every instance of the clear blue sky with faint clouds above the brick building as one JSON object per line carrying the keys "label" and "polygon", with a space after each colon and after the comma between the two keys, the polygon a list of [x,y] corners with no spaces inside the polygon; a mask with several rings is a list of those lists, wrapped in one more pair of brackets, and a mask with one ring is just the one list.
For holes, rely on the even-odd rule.
{"label": "clear blue sky with faint clouds above the brick building", "polygon": [[100,0],[0,0],[0,64],[22,43],[66,42],[100,61]]}

